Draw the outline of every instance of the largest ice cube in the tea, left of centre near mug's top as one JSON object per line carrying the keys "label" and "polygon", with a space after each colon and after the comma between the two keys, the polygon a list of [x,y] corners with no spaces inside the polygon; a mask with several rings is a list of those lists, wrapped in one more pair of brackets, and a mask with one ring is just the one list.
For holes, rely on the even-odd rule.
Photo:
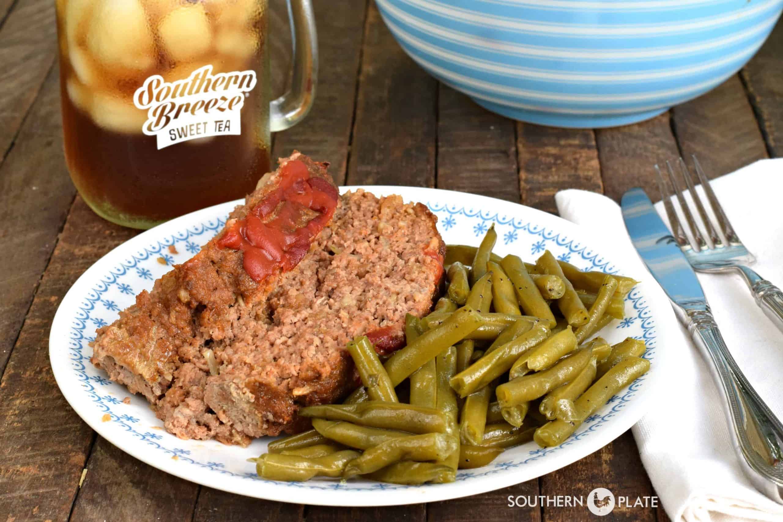
{"label": "largest ice cube in the tea, left of centre near mug's top", "polygon": [[109,68],[152,67],[156,59],[153,34],[139,0],[101,0],[90,20],[87,47]]}

